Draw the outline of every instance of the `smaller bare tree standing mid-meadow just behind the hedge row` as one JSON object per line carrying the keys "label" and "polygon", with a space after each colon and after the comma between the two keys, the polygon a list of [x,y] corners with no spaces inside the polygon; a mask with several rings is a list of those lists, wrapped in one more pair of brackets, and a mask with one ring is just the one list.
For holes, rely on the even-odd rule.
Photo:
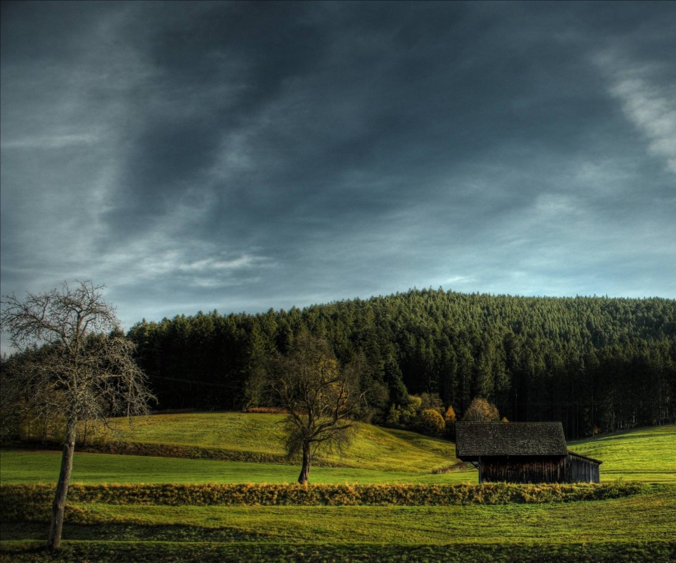
{"label": "smaller bare tree standing mid-meadow just behind the hedge row", "polygon": [[274,362],[272,387],[289,411],[287,453],[301,453],[298,482],[308,482],[315,453],[349,441],[352,417],[364,404],[354,369],[340,367],[332,350],[310,336],[296,339],[289,355]]}

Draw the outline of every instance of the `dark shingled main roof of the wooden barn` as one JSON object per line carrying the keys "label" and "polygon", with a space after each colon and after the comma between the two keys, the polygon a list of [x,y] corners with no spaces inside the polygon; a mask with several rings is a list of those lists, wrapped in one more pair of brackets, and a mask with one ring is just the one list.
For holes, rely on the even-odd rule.
{"label": "dark shingled main roof of the wooden barn", "polygon": [[456,455],[566,455],[561,422],[456,422]]}

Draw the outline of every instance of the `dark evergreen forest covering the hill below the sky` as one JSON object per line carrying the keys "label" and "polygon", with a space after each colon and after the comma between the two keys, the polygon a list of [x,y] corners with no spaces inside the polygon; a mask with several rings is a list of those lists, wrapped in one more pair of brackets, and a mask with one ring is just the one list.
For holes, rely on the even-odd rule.
{"label": "dark evergreen forest covering the hill below the sky", "polygon": [[474,396],[510,420],[561,420],[566,436],[676,417],[676,301],[413,290],[259,315],[140,322],[129,337],[163,408],[266,403],[262,366],[302,331],[361,358],[375,421],[408,393],[459,416]]}

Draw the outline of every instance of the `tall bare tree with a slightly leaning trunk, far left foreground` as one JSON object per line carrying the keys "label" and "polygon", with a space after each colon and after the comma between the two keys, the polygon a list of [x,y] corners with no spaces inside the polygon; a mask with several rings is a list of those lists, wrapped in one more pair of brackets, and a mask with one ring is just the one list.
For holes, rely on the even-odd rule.
{"label": "tall bare tree with a slightly leaning trunk, far left foreground", "polygon": [[[3,394],[32,417],[53,417],[63,428],[63,455],[47,547],[61,544],[77,423],[147,412],[154,396],[133,359],[134,344],[118,328],[115,308],[91,281],[61,291],[4,296],[1,321],[13,346],[23,350],[3,378]],[[13,358],[11,358],[13,359]]]}

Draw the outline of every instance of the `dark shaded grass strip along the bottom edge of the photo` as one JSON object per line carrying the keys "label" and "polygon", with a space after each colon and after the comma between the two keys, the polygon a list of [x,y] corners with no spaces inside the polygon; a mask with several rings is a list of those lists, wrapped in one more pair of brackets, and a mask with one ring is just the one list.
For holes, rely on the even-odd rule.
{"label": "dark shaded grass strip along the bottom edge of the photo", "polygon": [[[104,532],[103,530],[101,532]],[[42,542],[6,542],[2,562],[42,563],[673,563],[676,543],[607,542],[562,545],[522,543],[399,545],[323,542],[173,542],[66,541],[56,554],[46,555]]]}

